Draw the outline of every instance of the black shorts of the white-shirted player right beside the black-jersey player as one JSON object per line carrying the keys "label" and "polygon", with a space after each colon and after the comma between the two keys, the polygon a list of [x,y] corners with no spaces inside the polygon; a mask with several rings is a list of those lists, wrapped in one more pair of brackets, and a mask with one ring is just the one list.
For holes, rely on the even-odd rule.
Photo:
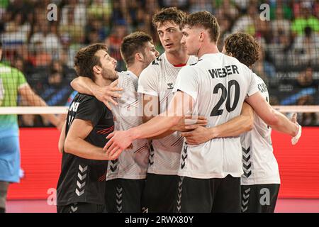
{"label": "black shorts of the white-shirted player right beside the black-jersey player", "polygon": [[108,213],[141,213],[145,179],[111,179],[106,181]]}

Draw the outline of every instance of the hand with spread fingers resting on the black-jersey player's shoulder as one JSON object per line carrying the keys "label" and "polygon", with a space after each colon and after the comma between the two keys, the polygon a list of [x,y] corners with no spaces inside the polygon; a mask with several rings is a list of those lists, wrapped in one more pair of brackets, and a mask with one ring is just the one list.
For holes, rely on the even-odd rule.
{"label": "hand with spread fingers resting on the black-jersey player's shoulder", "polygon": [[93,91],[93,94],[96,97],[96,99],[98,99],[99,101],[102,101],[103,104],[105,104],[107,108],[111,110],[112,108],[110,103],[113,105],[118,104],[116,101],[114,101],[113,98],[120,98],[121,94],[119,94],[118,92],[121,92],[122,90],[123,88],[118,87],[118,79],[117,79],[116,81],[112,82],[108,86],[96,87],[96,89],[94,89]]}

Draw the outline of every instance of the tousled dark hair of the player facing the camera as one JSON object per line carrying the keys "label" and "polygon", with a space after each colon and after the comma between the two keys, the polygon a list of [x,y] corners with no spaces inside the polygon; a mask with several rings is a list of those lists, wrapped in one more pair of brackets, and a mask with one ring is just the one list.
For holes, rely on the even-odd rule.
{"label": "tousled dark hair of the player facing the camera", "polygon": [[176,7],[169,7],[157,11],[152,18],[152,24],[157,28],[158,25],[162,25],[168,21],[176,23],[178,26],[184,21],[186,13],[177,9]]}

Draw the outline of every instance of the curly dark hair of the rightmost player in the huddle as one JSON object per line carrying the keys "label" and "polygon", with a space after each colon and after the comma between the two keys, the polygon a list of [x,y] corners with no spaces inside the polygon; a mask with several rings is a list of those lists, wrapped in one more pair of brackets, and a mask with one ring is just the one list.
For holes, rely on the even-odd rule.
{"label": "curly dark hair of the rightmost player in the huddle", "polygon": [[259,59],[259,44],[246,33],[229,35],[224,42],[225,50],[247,67],[251,67]]}

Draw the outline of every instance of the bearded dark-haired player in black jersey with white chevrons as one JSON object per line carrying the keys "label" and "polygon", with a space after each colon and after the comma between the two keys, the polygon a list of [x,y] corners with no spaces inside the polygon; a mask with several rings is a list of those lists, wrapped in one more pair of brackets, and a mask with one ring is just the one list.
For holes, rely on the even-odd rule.
{"label": "bearded dark-haired player in black jersey with white chevrons", "polygon": [[[77,74],[90,77],[100,86],[118,79],[115,67],[116,60],[108,55],[103,44],[82,48],[74,58]],[[113,129],[112,113],[103,102],[86,94],[74,97],[59,141],[63,156],[57,183],[57,212],[105,211],[107,160],[120,155],[109,155],[102,149]]]}

